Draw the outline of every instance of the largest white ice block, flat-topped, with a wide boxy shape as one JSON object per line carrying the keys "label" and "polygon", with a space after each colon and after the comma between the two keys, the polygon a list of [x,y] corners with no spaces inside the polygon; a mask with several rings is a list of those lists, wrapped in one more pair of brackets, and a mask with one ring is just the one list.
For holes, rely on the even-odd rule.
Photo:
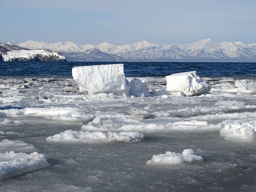
{"label": "largest white ice block, flat-topped, with a wide boxy shape", "polygon": [[72,76],[81,92],[130,96],[129,82],[124,75],[124,64],[74,67]]}

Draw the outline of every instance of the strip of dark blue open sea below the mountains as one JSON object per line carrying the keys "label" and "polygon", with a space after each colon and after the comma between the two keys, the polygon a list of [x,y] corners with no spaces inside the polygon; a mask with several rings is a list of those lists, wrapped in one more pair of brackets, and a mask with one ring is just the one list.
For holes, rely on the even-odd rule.
{"label": "strip of dark blue open sea below the mountains", "polygon": [[[0,76],[72,76],[75,66],[118,62],[2,62]],[[120,63],[120,62],[119,62]],[[127,77],[166,75],[196,70],[201,77],[256,77],[256,63],[239,62],[123,62]]]}

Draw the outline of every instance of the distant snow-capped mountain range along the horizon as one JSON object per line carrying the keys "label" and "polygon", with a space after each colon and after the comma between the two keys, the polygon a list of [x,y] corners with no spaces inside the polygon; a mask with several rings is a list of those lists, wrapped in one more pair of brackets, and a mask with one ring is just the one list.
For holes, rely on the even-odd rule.
{"label": "distant snow-capped mountain range along the horizon", "polygon": [[50,44],[33,40],[23,43],[12,41],[7,44],[59,51],[68,61],[256,62],[255,43],[219,43],[210,38],[184,45],[157,45],[147,41],[124,46],[106,42],[79,45],[70,41]]}

